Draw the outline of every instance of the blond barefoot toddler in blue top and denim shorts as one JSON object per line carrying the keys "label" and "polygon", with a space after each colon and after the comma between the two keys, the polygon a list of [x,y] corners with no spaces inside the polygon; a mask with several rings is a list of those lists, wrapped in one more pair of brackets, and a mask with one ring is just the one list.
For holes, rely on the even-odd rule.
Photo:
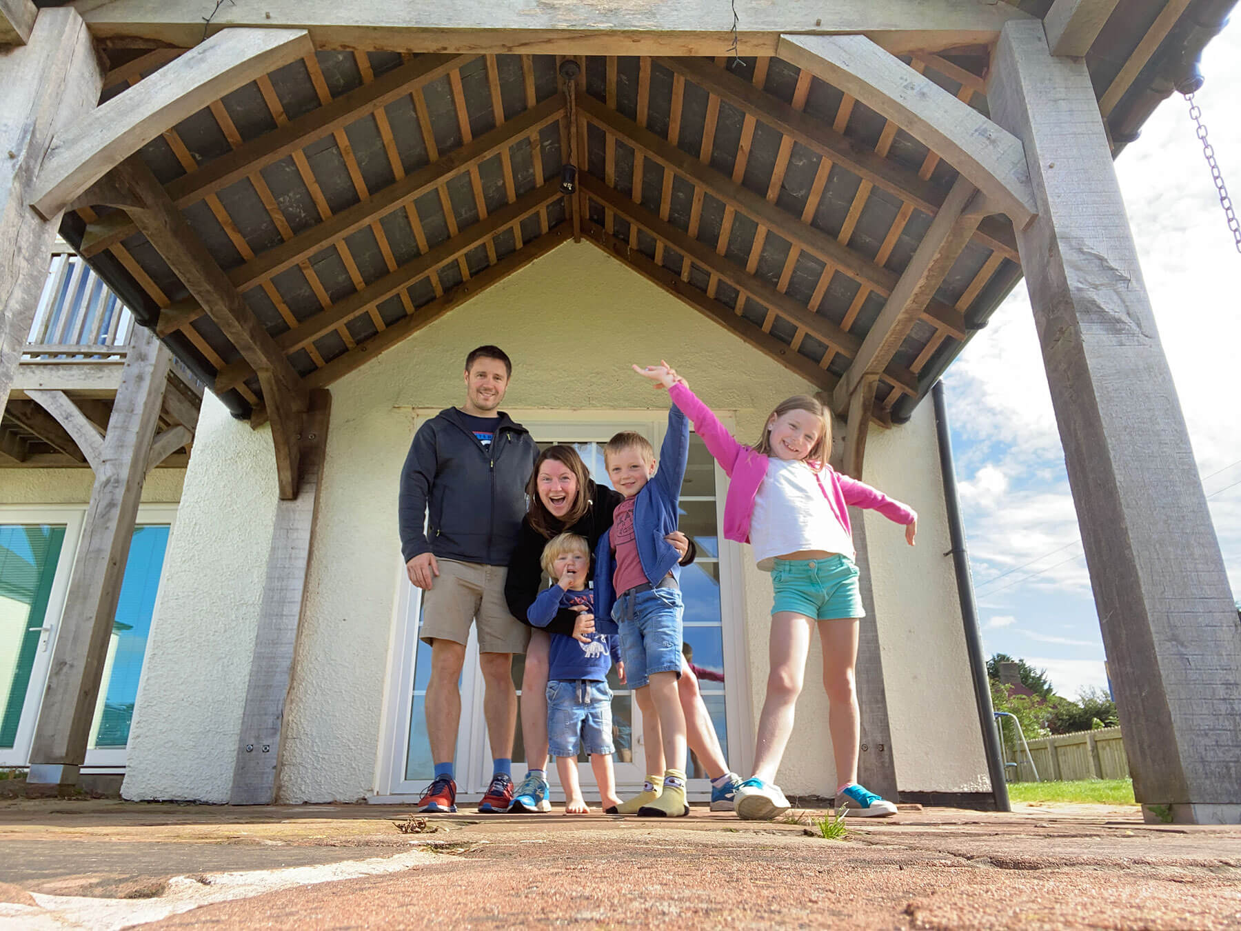
{"label": "blond barefoot toddler in blue top and denim shorts", "polygon": [[617,675],[624,683],[624,664],[618,638],[607,633],[583,633],[593,628],[593,593],[586,588],[591,573],[591,547],[586,537],[561,534],[544,547],[542,567],[552,585],[539,593],[526,618],[535,627],[546,627],[561,608],[580,611],[573,636],[551,636],[547,653],[547,749],[556,757],[556,772],[565,789],[565,814],[589,814],[577,781],[577,751],[591,757],[599,801],[606,812],[614,812],[616,775],[612,770],[612,689],[608,669],[617,660]]}

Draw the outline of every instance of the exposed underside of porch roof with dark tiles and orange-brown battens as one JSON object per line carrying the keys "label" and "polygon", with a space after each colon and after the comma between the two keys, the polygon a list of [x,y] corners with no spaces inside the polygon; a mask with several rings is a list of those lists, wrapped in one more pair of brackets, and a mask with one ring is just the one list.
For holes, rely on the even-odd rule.
{"label": "exposed underside of porch roof with dark tiles and orange-brown battens", "polygon": [[[1152,93],[1126,62],[1160,7],[1122,2],[1087,58],[1104,99],[1132,84],[1113,91],[1113,108],[1129,102],[1118,119]],[[175,55],[114,51],[104,99]],[[830,389],[957,171],[779,58],[580,61],[571,125],[556,56],[320,50],[140,154],[309,387],[570,238],[581,206],[583,238]],[[987,112],[988,48],[906,61]],[[580,192],[565,197],[573,151]],[[104,210],[67,217],[67,237],[140,315],[161,310],[159,331],[235,410],[262,405],[237,348]],[[885,370],[881,420],[907,416],[1019,277],[1011,226],[988,218]]]}

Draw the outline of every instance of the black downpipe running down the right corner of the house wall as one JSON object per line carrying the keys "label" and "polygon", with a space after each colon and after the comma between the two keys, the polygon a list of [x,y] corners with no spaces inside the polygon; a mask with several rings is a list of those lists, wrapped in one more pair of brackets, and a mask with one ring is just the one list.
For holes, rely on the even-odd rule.
{"label": "black downpipe running down the right corner of the house wall", "polygon": [[978,705],[978,724],[983,729],[983,749],[987,752],[987,772],[992,777],[995,809],[1011,812],[1008,783],[1004,781],[1004,758],[1000,756],[1000,737],[995,729],[995,709],[992,708],[992,689],[987,680],[987,660],[983,658],[983,638],[978,632],[978,609],[974,606],[974,580],[969,573],[969,554],[965,551],[965,529],[961,523],[961,501],[957,499],[957,467],[952,462],[952,437],[948,433],[948,411],[943,402],[943,382],[931,389],[934,400],[934,430],[939,441],[939,470],[943,474],[943,500],[948,511],[948,537],[952,541],[952,564],[957,570],[957,593],[961,597],[961,622],[965,631],[965,649],[969,652],[969,672],[974,680],[974,701]]}

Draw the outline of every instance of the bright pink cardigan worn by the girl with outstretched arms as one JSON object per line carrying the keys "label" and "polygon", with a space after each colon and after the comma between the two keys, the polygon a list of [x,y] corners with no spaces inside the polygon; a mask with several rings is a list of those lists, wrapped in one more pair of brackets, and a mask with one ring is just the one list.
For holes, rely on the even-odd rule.
{"label": "bright pink cardigan worn by the girl with outstretched arms", "polygon": [[[668,394],[694,423],[694,432],[702,437],[707,451],[731,479],[728,497],[724,503],[724,535],[737,542],[750,542],[750,518],[755,513],[758,487],[767,478],[767,457],[738,443],[711,413],[711,408],[685,385],[673,385]],[[871,508],[897,524],[912,524],[917,519],[917,514],[908,505],[889,498],[864,482],[841,475],[830,466],[824,466],[819,473],[819,488],[823,489],[824,498],[850,536],[853,536],[849,526],[850,505]]]}

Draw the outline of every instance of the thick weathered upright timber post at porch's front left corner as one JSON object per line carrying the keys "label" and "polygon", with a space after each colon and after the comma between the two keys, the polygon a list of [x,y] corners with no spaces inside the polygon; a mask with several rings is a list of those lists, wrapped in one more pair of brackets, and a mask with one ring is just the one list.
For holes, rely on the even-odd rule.
{"label": "thick weathered upright timber post at porch's front left corner", "polygon": [[47,283],[60,217],[30,210],[35,175],[58,129],[99,99],[103,74],[74,10],[43,10],[25,45],[0,55],[0,410],[9,401]]}

